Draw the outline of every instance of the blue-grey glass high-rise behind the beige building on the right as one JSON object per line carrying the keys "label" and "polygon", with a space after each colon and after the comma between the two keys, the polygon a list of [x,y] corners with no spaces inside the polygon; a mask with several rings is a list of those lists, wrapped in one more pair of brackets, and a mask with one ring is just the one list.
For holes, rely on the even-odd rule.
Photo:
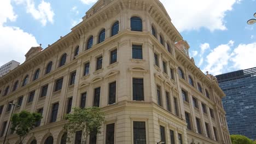
{"label": "blue-grey glass high-rise behind the beige building on the right", "polygon": [[230,134],[256,140],[256,67],[216,77],[226,94],[222,101]]}

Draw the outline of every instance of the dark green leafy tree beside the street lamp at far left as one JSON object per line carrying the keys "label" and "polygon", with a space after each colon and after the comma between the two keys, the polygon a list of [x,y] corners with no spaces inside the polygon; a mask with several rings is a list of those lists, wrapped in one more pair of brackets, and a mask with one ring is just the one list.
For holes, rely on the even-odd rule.
{"label": "dark green leafy tree beside the street lamp at far left", "polygon": [[36,112],[21,111],[20,113],[14,113],[13,117],[11,117],[11,130],[16,131],[16,134],[19,135],[20,143],[40,119],[42,119],[42,115]]}

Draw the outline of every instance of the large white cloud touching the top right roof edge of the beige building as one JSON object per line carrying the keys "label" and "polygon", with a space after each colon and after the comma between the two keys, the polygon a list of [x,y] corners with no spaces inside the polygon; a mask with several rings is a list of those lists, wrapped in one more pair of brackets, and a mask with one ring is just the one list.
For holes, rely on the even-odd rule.
{"label": "large white cloud touching the top right roof edge of the beige building", "polygon": [[207,28],[225,30],[225,13],[241,0],[160,0],[170,15],[174,26],[182,31]]}

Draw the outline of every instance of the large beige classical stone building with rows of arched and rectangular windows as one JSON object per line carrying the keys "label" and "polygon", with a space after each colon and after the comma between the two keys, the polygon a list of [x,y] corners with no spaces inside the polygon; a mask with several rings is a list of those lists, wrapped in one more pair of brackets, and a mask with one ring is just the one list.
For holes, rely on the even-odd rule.
{"label": "large beige classical stone building with rows of arched and rectangular windows", "polygon": [[[189,45],[158,0],[100,0],[72,32],[0,79],[0,142],[14,112],[42,113],[24,143],[66,143],[72,107],[106,115],[91,144],[231,144],[216,78],[196,67]],[[81,143],[82,131],[71,143]],[[9,131],[7,143],[18,136]]]}

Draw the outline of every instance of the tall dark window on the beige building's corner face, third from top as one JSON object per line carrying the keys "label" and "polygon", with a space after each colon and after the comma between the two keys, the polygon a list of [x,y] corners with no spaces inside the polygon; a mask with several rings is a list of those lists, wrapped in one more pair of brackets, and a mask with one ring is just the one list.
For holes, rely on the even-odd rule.
{"label": "tall dark window on the beige building's corner face, third from top", "polygon": [[132,79],[132,95],[133,100],[144,100],[143,79]]}

